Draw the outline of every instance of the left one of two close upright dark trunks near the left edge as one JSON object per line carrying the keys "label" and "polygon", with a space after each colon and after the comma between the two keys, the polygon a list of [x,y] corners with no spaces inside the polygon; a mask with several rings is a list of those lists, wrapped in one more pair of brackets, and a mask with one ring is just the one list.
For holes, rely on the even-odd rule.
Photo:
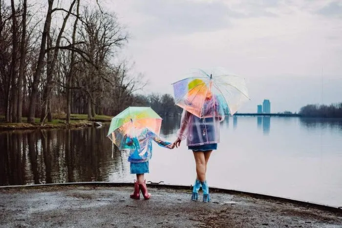
{"label": "left one of two close upright dark trunks near the left edge", "polygon": [[11,62],[11,78],[12,78],[12,122],[17,122],[17,51],[18,51],[18,38],[17,38],[17,18],[14,0],[11,0],[12,8],[12,62]]}

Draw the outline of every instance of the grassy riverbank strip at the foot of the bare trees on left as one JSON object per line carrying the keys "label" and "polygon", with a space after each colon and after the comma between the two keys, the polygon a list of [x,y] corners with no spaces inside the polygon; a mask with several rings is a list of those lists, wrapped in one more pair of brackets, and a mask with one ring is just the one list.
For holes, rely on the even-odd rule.
{"label": "grassy riverbank strip at the foot of the bare trees on left", "polygon": [[54,114],[52,122],[44,122],[40,124],[40,119],[35,118],[34,124],[28,124],[27,118],[22,118],[22,123],[6,123],[4,116],[0,116],[0,130],[24,130],[24,129],[49,129],[49,128],[78,128],[96,125],[101,122],[102,125],[110,124],[111,116],[97,115],[91,121],[87,120],[85,114],[71,114],[70,124],[66,124],[65,114]]}

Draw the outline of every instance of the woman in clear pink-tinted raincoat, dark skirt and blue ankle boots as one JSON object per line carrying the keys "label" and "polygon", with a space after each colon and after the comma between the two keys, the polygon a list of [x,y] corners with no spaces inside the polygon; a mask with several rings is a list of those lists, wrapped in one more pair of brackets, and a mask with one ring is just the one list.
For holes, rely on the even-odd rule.
{"label": "woman in clear pink-tinted raincoat, dark skirt and blue ankle boots", "polygon": [[217,97],[211,93],[207,95],[203,109],[203,116],[198,118],[192,113],[183,110],[180,129],[177,131],[177,140],[173,143],[178,147],[182,140],[187,138],[188,149],[192,150],[196,163],[196,180],[192,188],[192,200],[198,199],[198,190],[202,187],[203,202],[210,201],[209,186],[206,179],[207,165],[213,150],[217,149],[220,141],[220,122],[224,120],[223,112],[217,105]]}

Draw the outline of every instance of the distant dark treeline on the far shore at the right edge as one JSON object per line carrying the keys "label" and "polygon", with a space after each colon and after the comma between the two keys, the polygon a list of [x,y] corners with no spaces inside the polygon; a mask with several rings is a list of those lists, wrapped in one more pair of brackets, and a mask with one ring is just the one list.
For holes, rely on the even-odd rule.
{"label": "distant dark treeline on the far shore at the right edge", "polygon": [[342,118],[342,103],[308,104],[300,108],[299,114],[303,117]]}

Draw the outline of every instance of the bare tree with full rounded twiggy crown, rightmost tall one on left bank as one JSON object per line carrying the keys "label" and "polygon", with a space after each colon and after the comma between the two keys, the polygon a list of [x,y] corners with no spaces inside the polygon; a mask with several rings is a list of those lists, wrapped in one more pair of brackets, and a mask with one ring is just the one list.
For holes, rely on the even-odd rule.
{"label": "bare tree with full rounded twiggy crown, rightmost tall one on left bank", "polygon": [[108,78],[108,60],[128,40],[127,33],[117,22],[115,15],[102,13],[99,10],[83,9],[84,21],[78,34],[83,41],[80,45],[89,62],[83,62],[83,78],[80,86],[87,97],[88,119],[95,115],[96,100],[102,97],[104,85],[113,84]]}

